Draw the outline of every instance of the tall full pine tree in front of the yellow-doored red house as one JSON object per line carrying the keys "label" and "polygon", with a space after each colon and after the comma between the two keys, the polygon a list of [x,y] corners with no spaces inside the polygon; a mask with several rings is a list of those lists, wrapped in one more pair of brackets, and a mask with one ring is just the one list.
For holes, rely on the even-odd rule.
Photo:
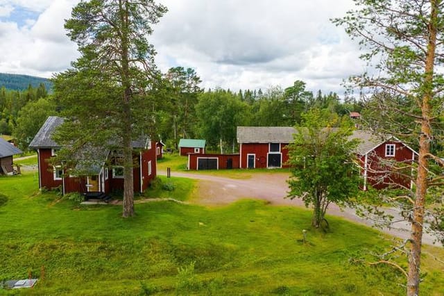
{"label": "tall full pine tree in front of the yellow-doored red house", "polygon": [[167,8],[153,0],[90,0],[65,23],[80,58],[53,79],[66,120],[56,140],[71,152],[85,145],[123,151],[123,217],[134,215],[133,140],[151,133],[152,91],[159,74],[148,42]]}

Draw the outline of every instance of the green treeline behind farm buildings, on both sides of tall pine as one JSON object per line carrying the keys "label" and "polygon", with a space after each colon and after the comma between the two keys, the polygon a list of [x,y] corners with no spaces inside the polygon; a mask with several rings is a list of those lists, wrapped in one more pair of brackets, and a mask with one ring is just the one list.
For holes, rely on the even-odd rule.
{"label": "green treeline behind farm buildings, on both sides of tall pine", "polygon": [[[207,140],[210,150],[222,153],[237,149],[237,126],[294,126],[301,114],[311,108],[345,117],[361,111],[354,99],[341,101],[334,92],[316,94],[305,89],[303,81],[267,90],[203,90],[194,69],[174,67],[159,79],[147,99],[153,100],[151,137],[176,148],[180,138]],[[21,149],[29,142],[49,115],[58,115],[58,102],[43,83],[28,85],[23,91],[0,90],[0,134],[13,135]],[[345,116],[344,116],[345,115]]]}

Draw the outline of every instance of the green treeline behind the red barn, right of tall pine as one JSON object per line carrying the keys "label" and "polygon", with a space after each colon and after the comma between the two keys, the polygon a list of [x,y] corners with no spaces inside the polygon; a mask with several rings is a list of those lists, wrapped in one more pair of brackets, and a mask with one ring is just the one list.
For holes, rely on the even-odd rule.
{"label": "green treeline behind the red barn, right of tall pine", "polygon": [[202,138],[212,150],[234,151],[237,126],[294,126],[301,114],[311,108],[348,118],[360,112],[353,98],[341,101],[334,92],[313,94],[303,81],[287,88],[267,90],[206,90],[193,69],[176,67],[164,75],[166,96],[157,111],[157,133],[169,147],[177,147],[180,138]]}

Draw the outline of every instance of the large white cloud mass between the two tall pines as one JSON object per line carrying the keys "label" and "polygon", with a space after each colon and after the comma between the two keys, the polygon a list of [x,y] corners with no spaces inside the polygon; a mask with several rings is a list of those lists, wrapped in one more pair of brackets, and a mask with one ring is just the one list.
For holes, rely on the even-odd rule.
{"label": "large white cloud mass between the two tall pines", "polygon": [[169,12],[152,38],[157,63],[164,71],[193,67],[205,88],[286,87],[299,79],[314,91],[342,92],[343,78],[359,68],[355,44],[329,20],[345,15],[350,0],[162,3]]}

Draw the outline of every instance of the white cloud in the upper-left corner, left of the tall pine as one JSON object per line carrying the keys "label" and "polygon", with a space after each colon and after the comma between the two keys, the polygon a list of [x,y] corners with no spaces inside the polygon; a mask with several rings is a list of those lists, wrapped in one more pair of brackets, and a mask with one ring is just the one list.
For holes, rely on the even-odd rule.
{"label": "white cloud in the upper-left corner, left of the tall pine", "polygon": [[[15,1],[19,2],[19,1]],[[37,3],[38,2],[38,3]],[[39,7],[45,1],[37,1]],[[71,13],[72,1],[46,1],[49,6],[37,20],[25,20],[26,26],[0,22],[0,72],[49,77],[67,67],[78,54],[63,28]]]}

